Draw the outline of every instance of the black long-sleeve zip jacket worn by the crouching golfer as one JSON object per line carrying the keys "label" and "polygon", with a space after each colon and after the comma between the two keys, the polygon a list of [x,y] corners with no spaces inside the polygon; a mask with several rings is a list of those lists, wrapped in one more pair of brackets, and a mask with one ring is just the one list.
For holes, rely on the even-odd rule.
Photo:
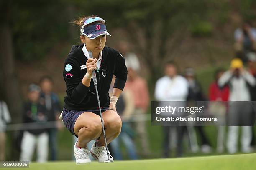
{"label": "black long-sleeve zip jacket worn by the crouching golfer", "polygon": [[[92,110],[98,107],[95,86],[91,80],[90,86],[82,84],[82,79],[87,72],[85,57],[82,47],[72,46],[65,60],[63,77],[66,82],[66,93],[64,107],[67,110]],[[116,76],[114,88],[123,90],[127,80],[127,68],[125,59],[113,48],[105,46],[102,50],[102,61],[99,72],[96,71],[97,89],[100,97],[100,105],[108,107],[110,97],[108,94],[113,75]]]}

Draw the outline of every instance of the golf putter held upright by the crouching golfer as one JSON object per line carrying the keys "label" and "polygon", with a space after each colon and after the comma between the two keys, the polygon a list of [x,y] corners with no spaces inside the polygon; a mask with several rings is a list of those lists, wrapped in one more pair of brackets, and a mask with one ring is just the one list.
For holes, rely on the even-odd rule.
{"label": "golf putter held upright by the crouching golfer", "polygon": [[[92,52],[89,51],[88,53],[89,53],[89,58],[93,58],[92,57]],[[98,93],[98,88],[97,88],[97,78],[96,78],[95,70],[92,71],[92,80],[93,80],[93,83],[94,83],[94,86],[95,86],[95,89],[96,89],[96,95],[97,95],[97,100],[98,100],[98,105],[99,105],[99,110],[100,110],[100,120],[101,120],[101,125],[102,125],[102,131],[103,131],[105,146],[106,146],[107,155],[108,155],[108,146],[107,146],[107,140],[106,140],[104,125],[103,125],[103,118],[102,118],[102,113],[101,113],[100,98],[99,98],[99,93]],[[111,163],[111,161],[109,159],[109,155],[108,155],[108,160],[105,160],[104,163]]]}

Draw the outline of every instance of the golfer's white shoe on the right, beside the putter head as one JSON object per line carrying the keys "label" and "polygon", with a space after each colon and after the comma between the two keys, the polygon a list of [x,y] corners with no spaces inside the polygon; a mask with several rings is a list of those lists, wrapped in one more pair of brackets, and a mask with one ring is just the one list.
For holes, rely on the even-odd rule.
{"label": "golfer's white shoe on the right, beside the putter head", "polygon": [[113,157],[110,155],[110,152],[108,150],[107,155],[107,149],[105,146],[96,146],[96,143],[92,145],[92,148],[90,150],[90,154],[99,161],[99,163],[107,163],[108,161],[108,155],[110,162],[114,162]]}

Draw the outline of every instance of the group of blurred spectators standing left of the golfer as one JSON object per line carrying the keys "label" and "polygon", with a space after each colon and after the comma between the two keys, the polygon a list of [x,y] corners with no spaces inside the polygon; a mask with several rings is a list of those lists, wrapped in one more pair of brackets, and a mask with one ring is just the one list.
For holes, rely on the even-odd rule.
{"label": "group of blurred spectators standing left of the golfer", "polygon": [[[31,161],[36,149],[36,161],[46,162],[48,150],[50,160],[57,160],[57,131],[62,128],[58,117],[61,114],[59,97],[52,91],[51,77],[41,77],[38,83],[28,86],[27,102],[23,105],[23,127],[15,138],[20,161]],[[5,102],[1,101],[1,160],[5,160],[5,130],[10,122],[10,113]],[[3,131],[3,133],[2,133]]]}

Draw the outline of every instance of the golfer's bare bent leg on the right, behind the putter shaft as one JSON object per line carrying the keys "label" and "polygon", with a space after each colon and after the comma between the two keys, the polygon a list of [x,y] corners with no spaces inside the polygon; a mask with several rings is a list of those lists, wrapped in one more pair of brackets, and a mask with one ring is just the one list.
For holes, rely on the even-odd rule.
{"label": "golfer's bare bent leg on the right, behind the putter shaft", "polygon": [[[122,120],[120,116],[113,110],[106,110],[102,113],[103,120],[105,122],[104,129],[106,134],[107,145],[114,140],[121,132]],[[101,126],[101,125],[100,125]],[[105,140],[103,133],[100,134],[100,139],[97,141],[97,145],[105,146]]]}

